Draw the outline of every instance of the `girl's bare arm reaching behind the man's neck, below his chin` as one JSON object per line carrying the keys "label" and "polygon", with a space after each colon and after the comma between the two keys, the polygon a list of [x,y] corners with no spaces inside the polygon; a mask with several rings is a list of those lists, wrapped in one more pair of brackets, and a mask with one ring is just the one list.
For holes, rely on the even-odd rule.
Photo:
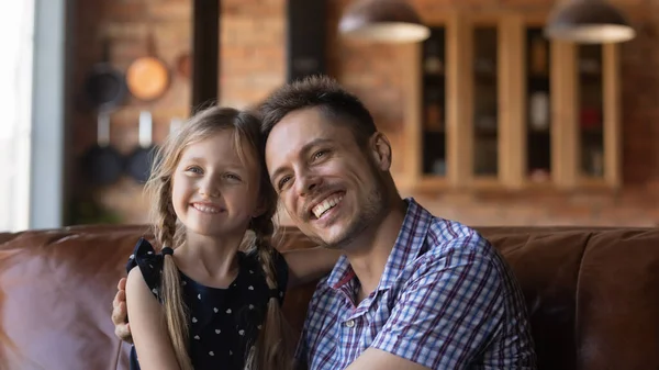
{"label": "girl's bare arm reaching behind the man's neck, below his chin", "polygon": [[287,250],[281,254],[289,266],[288,287],[294,288],[330,273],[340,256],[340,250],[315,247]]}

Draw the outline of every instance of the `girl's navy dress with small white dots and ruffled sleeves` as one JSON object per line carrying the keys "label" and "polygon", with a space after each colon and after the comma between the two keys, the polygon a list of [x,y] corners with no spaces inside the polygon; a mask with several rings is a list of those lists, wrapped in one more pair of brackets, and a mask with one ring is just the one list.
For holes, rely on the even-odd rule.
{"label": "girl's navy dress with small white dots and ruffled sleeves", "polygon": [[[244,369],[248,349],[256,344],[270,294],[283,302],[288,266],[275,251],[278,290],[270,291],[257,254],[238,251],[238,276],[227,289],[210,288],[181,272],[183,300],[189,309],[189,355],[196,370]],[[159,298],[163,255],[141,238],[126,265],[139,267],[144,280]],[[131,350],[131,369],[139,369],[135,347]]]}

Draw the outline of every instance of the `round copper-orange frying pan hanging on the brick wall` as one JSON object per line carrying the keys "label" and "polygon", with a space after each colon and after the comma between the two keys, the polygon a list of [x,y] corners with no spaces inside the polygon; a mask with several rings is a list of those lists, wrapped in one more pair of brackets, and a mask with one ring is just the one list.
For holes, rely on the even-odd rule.
{"label": "round copper-orange frying pan hanging on the brick wall", "polygon": [[160,98],[169,86],[169,70],[156,56],[153,32],[147,35],[147,56],[131,63],[126,70],[126,83],[133,97],[148,102]]}

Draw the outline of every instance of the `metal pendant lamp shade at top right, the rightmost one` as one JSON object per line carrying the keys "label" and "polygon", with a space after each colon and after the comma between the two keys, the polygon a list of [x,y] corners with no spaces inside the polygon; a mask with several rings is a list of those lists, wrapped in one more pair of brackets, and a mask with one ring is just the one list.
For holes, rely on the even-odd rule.
{"label": "metal pendant lamp shade at top right, the rightmost one", "polygon": [[632,40],[636,32],[625,16],[604,0],[572,0],[549,15],[548,38],[581,44],[618,43]]}

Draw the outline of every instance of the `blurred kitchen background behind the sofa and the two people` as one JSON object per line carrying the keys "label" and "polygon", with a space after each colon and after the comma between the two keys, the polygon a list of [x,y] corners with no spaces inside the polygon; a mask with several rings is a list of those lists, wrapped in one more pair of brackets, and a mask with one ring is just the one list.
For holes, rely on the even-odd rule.
{"label": "blurred kitchen background behind the sofa and the two people", "polygon": [[608,1],[629,41],[549,37],[579,1],[599,2],[404,1],[428,33],[394,43],[340,33],[365,16],[348,0],[4,2],[0,231],[147,222],[149,150],[170,131],[313,74],[362,99],[401,194],[439,216],[657,226],[659,0]]}

